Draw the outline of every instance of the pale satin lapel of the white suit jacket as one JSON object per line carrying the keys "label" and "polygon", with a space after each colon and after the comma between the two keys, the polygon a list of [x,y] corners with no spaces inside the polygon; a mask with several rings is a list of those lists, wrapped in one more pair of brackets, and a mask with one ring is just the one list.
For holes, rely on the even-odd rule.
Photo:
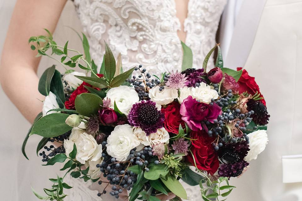
{"label": "pale satin lapel of the white suit jacket", "polygon": [[243,67],[253,46],[266,0],[244,0],[234,27],[232,40],[224,65],[228,68]]}

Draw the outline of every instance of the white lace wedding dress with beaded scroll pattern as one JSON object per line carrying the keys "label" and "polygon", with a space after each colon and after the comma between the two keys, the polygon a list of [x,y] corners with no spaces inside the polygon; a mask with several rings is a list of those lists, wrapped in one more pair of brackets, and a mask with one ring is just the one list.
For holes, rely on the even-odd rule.
{"label": "white lace wedding dress with beaded scroll pattern", "polygon": [[[122,55],[124,70],[142,64],[149,73],[181,70],[181,29],[176,17],[175,0],[75,0],[77,13],[87,35],[91,56],[98,66],[103,60],[104,40],[113,54]],[[184,21],[186,40],[193,52],[193,67],[201,68],[205,55],[215,46],[215,35],[226,0],[190,0]],[[209,65],[213,65],[213,59]],[[98,198],[98,184],[89,186],[80,180],[66,200],[115,200]],[[184,184],[189,200],[202,200],[199,186]],[[83,196],[85,194],[85,196]],[[107,194],[106,194],[107,195]]]}

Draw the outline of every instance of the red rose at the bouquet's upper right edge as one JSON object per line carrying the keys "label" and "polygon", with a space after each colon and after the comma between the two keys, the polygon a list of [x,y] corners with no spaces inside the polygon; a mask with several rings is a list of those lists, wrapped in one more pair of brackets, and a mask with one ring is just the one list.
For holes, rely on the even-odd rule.
{"label": "red rose at the bouquet's upper right edge", "polygon": [[[242,68],[237,68],[237,71],[239,71],[241,69]],[[245,69],[242,70],[242,75],[241,75],[240,79],[238,80],[238,84],[239,84],[239,89],[238,89],[239,94],[244,93],[246,91],[251,95],[254,95],[256,92],[260,93],[259,86],[255,82],[255,78],[249,76],[249,73]],[[260,93],[259,97],[263,98],[263,95]],[[264,105],[266,105],[266,102],[264,99],[261,99],[260,101]]]}

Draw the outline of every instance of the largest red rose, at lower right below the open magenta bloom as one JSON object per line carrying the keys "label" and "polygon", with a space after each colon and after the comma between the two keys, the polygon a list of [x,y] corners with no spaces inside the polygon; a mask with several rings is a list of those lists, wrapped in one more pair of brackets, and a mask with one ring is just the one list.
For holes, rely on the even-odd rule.
{"label": "largest red rose, at lower right below the open magenta bloom", "polygon": [[[212,145],[213,138],[210,138],[204,131],[192,131],[190,136],[192,139],[197,139],[192,140],[191,146],[197,168],[213,175],[219,167],[218,154]],[[195,166],[191,154],[187,155],[187,160]]]}

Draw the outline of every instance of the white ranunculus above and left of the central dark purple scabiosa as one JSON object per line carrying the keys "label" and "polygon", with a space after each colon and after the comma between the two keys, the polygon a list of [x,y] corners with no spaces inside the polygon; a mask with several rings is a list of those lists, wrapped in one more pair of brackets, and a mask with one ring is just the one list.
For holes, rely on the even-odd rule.
{"label": "white ranunculus above and left of the central dark purple scabiosa", "polygon": [[114,109],[114,101],[117,108],[125,115],[128,115],[132,105],[139,101],[137,92],[133,87],[119,86],[108,90],[104,100],[110,99],[110,108]]}

